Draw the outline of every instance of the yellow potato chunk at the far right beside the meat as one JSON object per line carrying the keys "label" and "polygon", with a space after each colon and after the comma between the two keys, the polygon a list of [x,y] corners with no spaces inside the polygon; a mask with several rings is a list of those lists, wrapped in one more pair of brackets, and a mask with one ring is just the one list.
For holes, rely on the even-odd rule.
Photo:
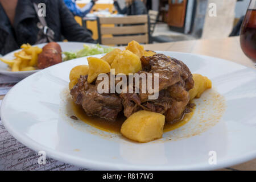
{"label": "yellow potato chunk at the far right beside the meat", "polygon": [[189,90],[190,101],[193,98],[201,97],[201,94],[209,88],[212,88],[212,81],[210,81],[207,77],[202,76],[200,74],[193,74],[193,80],[195,82],[194,87]]}

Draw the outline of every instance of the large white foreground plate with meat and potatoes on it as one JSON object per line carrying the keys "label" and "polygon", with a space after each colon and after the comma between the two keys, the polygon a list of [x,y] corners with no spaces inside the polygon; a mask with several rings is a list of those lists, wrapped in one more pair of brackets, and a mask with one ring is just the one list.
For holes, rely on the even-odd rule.
{"label": "large white foreground plate with meat and potatoes on it", "polygon": [[86,64],[86,58],[20,81],[5,96],[1,118],[24,145],[91,169],[217,169],[255,158],[256,71],[214,57],[163,53],[209,77],[213,88],[195,100],[192,119],[162,139],[135,143],[69,118],[69,71]]}

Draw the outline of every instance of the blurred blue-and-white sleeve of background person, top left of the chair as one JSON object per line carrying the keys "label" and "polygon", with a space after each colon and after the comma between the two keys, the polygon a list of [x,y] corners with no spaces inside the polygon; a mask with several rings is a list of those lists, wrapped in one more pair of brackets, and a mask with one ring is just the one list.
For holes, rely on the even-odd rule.
{"label": "blurred blue-and-white sleeve of background person, top left of the chair", "polygon": [[64,0],[65,4],[67,5],[71,13],[74,16],[80,16],[80,17],[84,17],[86,14],[88,14],[96,1],[98,0],[92,0],[84,7],[79,7],[76,4],[76,0]]}

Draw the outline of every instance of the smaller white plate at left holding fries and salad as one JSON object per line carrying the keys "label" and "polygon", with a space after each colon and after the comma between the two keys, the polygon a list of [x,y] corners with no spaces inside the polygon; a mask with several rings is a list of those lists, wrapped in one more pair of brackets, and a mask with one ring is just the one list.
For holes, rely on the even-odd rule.
{"label": "smaller white plate at left holding fries and salad", "polygon": [[[84,44],[95,45],[95,44],[91,44],[91,43],[82,43],[82,42],[57,42],[57,43],[60,44],[61,50],[63,52],[65,52],[65,51],[72,51],[72,52],[79,51],[80,49],[83,48]],[[43,44],[38,44],[38,45],[35,45],[35,46],[38,46],[38,47],[42,48],[46,44],[47,43],[43,43]],[[102,47],[107,47],[107,46],[102,46]],[[7,53],[5,56],[3,56],[3,58],[5,58],[5,59],[14,59],[15,58],[14,57],[14,52],[18,52],[20,50],[21,49],[18,49],[16,51]],[[0,61],[0,73],[3,74],[3,75],[25,78],[25,77],[30,76],[33,73],[38,72],[38,71],[39,71],[39,69],[38,70],[33,70],[33,71],[11,72],[11,71],[9,71],[8,65],[3,63],[2,61]]]}

